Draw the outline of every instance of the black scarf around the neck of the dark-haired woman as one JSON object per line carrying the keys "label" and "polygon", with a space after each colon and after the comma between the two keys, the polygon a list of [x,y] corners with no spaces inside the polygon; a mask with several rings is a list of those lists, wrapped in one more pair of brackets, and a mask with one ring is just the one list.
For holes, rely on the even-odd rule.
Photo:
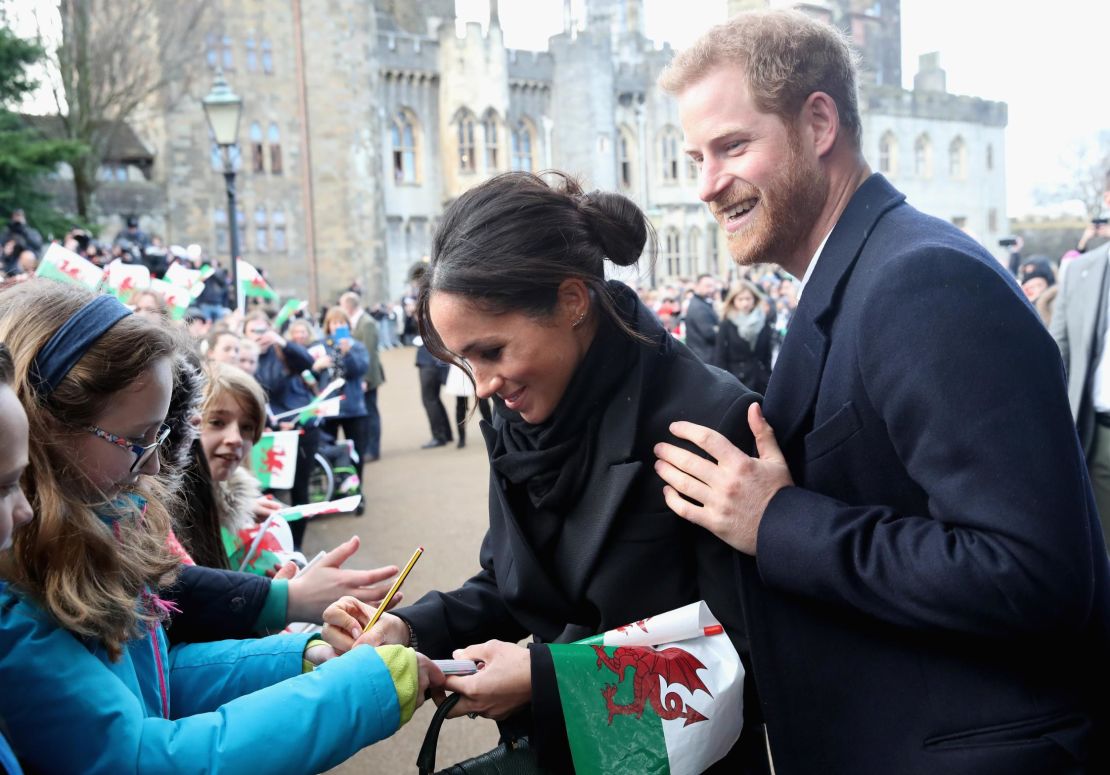
{"label": "black scarf around the neck of the dark-haired woman", "polygon": [[[635,293],[609,282],[622,318],[634,324]],[[557,536],[561,517],[582,493],[597,446],[597,429],[613,391],[639,358],[639,346],[605,314],[558,405],[545,422],[531,424],[494,396],[502,422],[490,463],[521,509],[522,526],[536,550]]]}

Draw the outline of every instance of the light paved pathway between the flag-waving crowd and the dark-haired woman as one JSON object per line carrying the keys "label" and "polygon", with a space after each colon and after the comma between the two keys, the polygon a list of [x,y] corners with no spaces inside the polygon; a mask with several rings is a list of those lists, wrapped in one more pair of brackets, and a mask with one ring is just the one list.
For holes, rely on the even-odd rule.
{"label": "light paved pathway between the flag-waving crowd and the dark-haired woman", "polygon": [[[417,600],[428,590],[453,590],[478,570],[478,546],[487,524],[488,477],[476,413],[467,427],[466,449],[458,450],[454,444],[420,449],[431,432],[420,400],[414,355],[412,348],[382,354],[387,380],[379,390],[382,459],[366,466],[365,515],[326,517],[310,525],[304,540],[305,554],[311,557],[351,535],[360,536],[362,546],[350,561],[351,567],[403,565],[413,550],[423,545],[424,556],[405,581],[408,601]],[[453,397],[444,396],[452,419],[453,402]],[[331,772],[415,773],[416,752],[433,707],[427,703],[396,735]],[[493,722],[451,719],[444,724],[436,764],[442,768],[488,751],[496,743],[497,728]]]}

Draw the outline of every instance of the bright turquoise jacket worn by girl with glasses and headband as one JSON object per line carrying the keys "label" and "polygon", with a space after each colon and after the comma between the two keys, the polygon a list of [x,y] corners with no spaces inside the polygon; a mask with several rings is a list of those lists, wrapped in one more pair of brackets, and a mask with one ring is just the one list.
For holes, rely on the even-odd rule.
{"label": "bright turquoise jacket worn by girl with glasses and headband", "polygon": [[[140,665],[152,648],[149,638],[134,642],[133,662],[129,651],[105,663],[32,605],[0,595],[0,716],[32,771],[113,775],[319,773],[396,731],[396,692],[373,648],[225,699],[236,681],[248,690],[276,673],[299,672],[296,642],[274,641],[280,666],[272,671],[253,664],[265,658],[261,652],[235,654],[219,644],[204,664],[202,652],[182,651],[172,658],[172,684],[215,681],[218,688],[182,688],[185,696],[171,694],[175,709],[224,702],[170,721],[151,709],[149,695],[144,703],[142,687],[159,681],[153,663]],[[220,677],[243,667],[250,677]]]}

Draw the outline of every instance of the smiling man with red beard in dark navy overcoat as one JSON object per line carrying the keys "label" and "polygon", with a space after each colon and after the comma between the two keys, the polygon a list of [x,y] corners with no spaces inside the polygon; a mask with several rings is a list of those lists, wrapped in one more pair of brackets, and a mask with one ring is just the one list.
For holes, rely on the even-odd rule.
{"label": "smiling man with red beard in dark navy overcoat", "polygon": [[660,82],[735,261],[801,278],[758,455],[656,446],[670,509],[737,550],[775,771],[1110,772],[1110,564],[1013,279],[871,173],[836,29],[740,14]]}

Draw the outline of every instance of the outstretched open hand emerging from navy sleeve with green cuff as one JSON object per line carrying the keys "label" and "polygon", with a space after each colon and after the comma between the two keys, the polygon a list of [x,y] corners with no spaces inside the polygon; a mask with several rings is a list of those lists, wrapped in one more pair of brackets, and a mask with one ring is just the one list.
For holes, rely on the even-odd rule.
{"label": "outstretched open hand emerging from navy sleeve with green cuff", "polygon": [[[289,582],[290,622],[319,623],[324,608],[343,595],[351,595],[364,603],[376,606],[390,591],[396,565],[386,565],[372,571],[345,571],[341,566],[359,551],[355,536],[333,548],[324,558],[296,578]],[[401,593],[393,596],[393,603],[401,601]]]}

